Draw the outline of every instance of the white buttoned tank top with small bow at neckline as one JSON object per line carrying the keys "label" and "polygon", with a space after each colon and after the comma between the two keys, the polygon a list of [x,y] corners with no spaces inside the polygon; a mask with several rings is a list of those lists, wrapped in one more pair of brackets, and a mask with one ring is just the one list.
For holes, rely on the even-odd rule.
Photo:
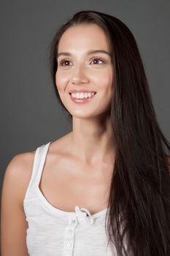
{"label": "white buttoned tank top with small bow at neckline", "polygon": [[39,189],[50,143],[36,148],[31,180],[23,200],[29,255],[116,256],[115,246],[108,244],[104,226],[109,208],[96,214],[79,206],[75,206],[74,212],[63,211],[52,206]]}

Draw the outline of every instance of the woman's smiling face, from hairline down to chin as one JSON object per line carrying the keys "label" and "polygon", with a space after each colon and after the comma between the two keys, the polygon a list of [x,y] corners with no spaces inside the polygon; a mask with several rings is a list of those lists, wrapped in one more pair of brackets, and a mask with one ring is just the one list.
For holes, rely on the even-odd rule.
{"label": "woman's smiling face, from hairline down to chin", "polygon": [[[92,52],[96,51],[98,52]],[[91,51],[91,52],[90,52]],[[105,51],[101,52],[101,51]],[[61,101],[72,116],[88,118],[109,110],[113,93],[113,67],[109,42],[96,24],[81,24],[67,29],[58,45],[55,82]],[[72,99],[72,90],[84,91]],[[96,94],[86,94],[95,91]],[[86,98],[87,96],[91,98]]]}

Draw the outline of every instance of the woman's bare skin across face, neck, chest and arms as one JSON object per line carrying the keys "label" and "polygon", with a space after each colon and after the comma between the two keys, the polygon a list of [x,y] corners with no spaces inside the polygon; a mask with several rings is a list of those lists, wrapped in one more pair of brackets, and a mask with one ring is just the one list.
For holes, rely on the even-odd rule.
{"label": "woman's bare skin across face, neck, chest and arms", "polygon": [[[89,54],[90,50],[109,53],[107,37],[95,24],[74,26],[65,31],[59,42],[58,53],[67,54],[58,57],[56,86],[63,105],[72,114],[73,129],[50,144],[39,188],[56,208],[74,211],[78,205],[95,214],[107,207],[115,159],[109,116],[114,73],[108,54]],[[80,88],[97,94],[87,104],[77,105],[70,99],[69,90]],[[31,178],[34,154],[32,151],[13,157],[4,175],[2,256],[28,256],[28,223],[23,199]]]}

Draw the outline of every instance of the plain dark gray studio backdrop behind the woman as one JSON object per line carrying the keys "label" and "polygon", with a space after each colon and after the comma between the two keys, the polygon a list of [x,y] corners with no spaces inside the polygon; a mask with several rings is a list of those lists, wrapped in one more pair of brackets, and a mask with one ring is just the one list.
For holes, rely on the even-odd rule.
{"label": "plain dark gray studio backdrop behind the woman", "polygon": [[131,29],[144,62],[158,122],[170,140],[169,0],[0,3],[1,183],[15,154],[34,151],[72,129],[55,97],[48,58],[56,29],[80,10],[107,12]]}

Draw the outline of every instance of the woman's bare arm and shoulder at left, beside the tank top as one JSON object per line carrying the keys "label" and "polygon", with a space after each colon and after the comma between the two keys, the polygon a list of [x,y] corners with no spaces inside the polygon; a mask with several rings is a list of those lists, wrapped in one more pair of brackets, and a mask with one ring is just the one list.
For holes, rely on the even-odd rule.
{"label": "woman's bare arm and shoulder at left, beside the tank top", "polygon": [[4,175],[1,194],[1,256],[28,256],[23,199],[31,176],[31,153],[12,158]]}

